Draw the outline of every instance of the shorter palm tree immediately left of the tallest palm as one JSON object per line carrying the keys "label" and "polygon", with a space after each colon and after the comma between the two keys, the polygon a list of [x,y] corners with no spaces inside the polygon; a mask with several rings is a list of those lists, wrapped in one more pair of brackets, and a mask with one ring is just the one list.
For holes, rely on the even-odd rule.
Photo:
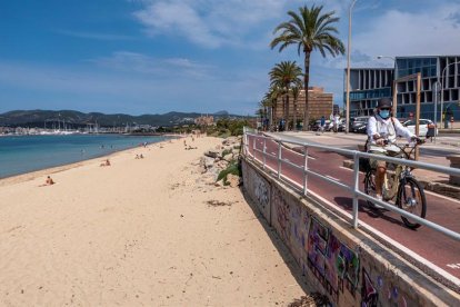
{"label": "shorter palm tree immediately left of the tallest palm", "polygon": [[[296,61],[281,61],[270,70],[270,85],[281,88],[286,95],[283,117],[289,122],[289,91],[291,85],[300,85],[302,69]],[[288,125],[289,126],[289,125]]]}

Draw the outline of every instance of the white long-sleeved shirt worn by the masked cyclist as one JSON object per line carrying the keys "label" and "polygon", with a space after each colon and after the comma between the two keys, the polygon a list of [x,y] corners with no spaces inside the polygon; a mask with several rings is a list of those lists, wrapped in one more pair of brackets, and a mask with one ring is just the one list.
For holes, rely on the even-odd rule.
{"label": "white long-sleeved shirt worn by the masked cyclist", "polygon": [[404,126],[402,126],[398,119],[391,119],[391,117],[388,119],[383,119],[379,115],[369,118],[367,130],[370,150],[381,152],[384,152],[387,150],[399,151],[399,148],[391,145],[384,147],[378,146],[377,141],[373,139],[374,135],[379,135],[383,139],[389,140],[390,143],[396,141],[397,136],[404,137],[408,141],[410,141],[411,138],[414,137],[414,135],[412,135]]}

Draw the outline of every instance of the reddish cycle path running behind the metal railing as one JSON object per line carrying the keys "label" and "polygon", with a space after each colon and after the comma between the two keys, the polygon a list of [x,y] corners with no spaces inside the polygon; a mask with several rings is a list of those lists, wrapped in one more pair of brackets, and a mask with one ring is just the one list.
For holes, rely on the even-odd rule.
{"label": "reddish cycle path running behind the metal railing", "polygon": [[[250,152],[254,155],[256,159],[262,161],[262,154],[254,152],[252,149],[253,141],[254,138],[249,138]],[[266,143],[266,151],[269,155],[276,156],[278,154],[278,143],[270,140]],[[263,150],[262,139],[258,138],[256,140],[256,148]],[[334,152],[326,152],[317,149],[309,149],[308,154],[310,157],[308,159],[310,170],[328,176],[348,186],[352,185],[352,170],[342,167],[344,157]],[[282,147],[282,159],[303,167],[303,155],[289,148]],[[272,169],[278,169],[278,160],[274,157],[266,157],[266,164]],[[302,170],[289,166],[286,162],[281,166],[281,174],[299,185],[303,182]],[[362,179],[363,176],[361,175],[361,191],[363,191]],[[352,196],[349,191],[318,178],[308,180],[308,188],[324,198],[332,206],[351,212]],[[426,192],[426,195],[428,204],[426,218],[460,232],[460,201],[431,192]],[[460,278],[460,244],[458,241],[423,226],[417,230],[411,230],[404,226],[399,215],[387,210],[371,209],[362,200],[359,201],[359,220],[383,232],[452,276]]]}

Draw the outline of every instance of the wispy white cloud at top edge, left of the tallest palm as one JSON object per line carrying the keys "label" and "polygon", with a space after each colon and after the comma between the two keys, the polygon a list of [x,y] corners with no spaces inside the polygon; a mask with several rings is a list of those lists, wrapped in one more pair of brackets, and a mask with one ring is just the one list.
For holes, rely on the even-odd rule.
{"label": "wispy white cloud at top edge, left of the tallest palm", "polygon": [[254,28],[286,14],[287,4],[302,1],[152,0],[143,1],[144,7],[133,16],[150,36],[176,34],[204,48],[219,48],[246,46]]}

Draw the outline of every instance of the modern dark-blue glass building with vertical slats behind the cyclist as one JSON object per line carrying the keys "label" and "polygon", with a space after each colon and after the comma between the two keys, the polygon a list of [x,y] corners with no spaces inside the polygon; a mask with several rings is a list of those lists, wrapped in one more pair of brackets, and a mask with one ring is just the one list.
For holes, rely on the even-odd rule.
{"label": "modern dark-blue glass building with vertical slats behind the cyclist", "polygon": [[[393,80],[420,72],[420,117],[434,120],[434,85],[443,89],[444,119],[460,119],[460,56],[397,57],[394,68],[354,68],[350,70],[350,116],[373,113],[377,100],[392,98]],[[344,70],[343,79],[347,77]],[[440,87],[440,88],[441,88]],[[346,81],[344,87],[346,89]],[[343,101],[346,105],[347,92]],[[416,112],[417,80],[398,82],[397,116],[407,118]],[[437,121],[440,121],[441,95],[438,96]]]}

